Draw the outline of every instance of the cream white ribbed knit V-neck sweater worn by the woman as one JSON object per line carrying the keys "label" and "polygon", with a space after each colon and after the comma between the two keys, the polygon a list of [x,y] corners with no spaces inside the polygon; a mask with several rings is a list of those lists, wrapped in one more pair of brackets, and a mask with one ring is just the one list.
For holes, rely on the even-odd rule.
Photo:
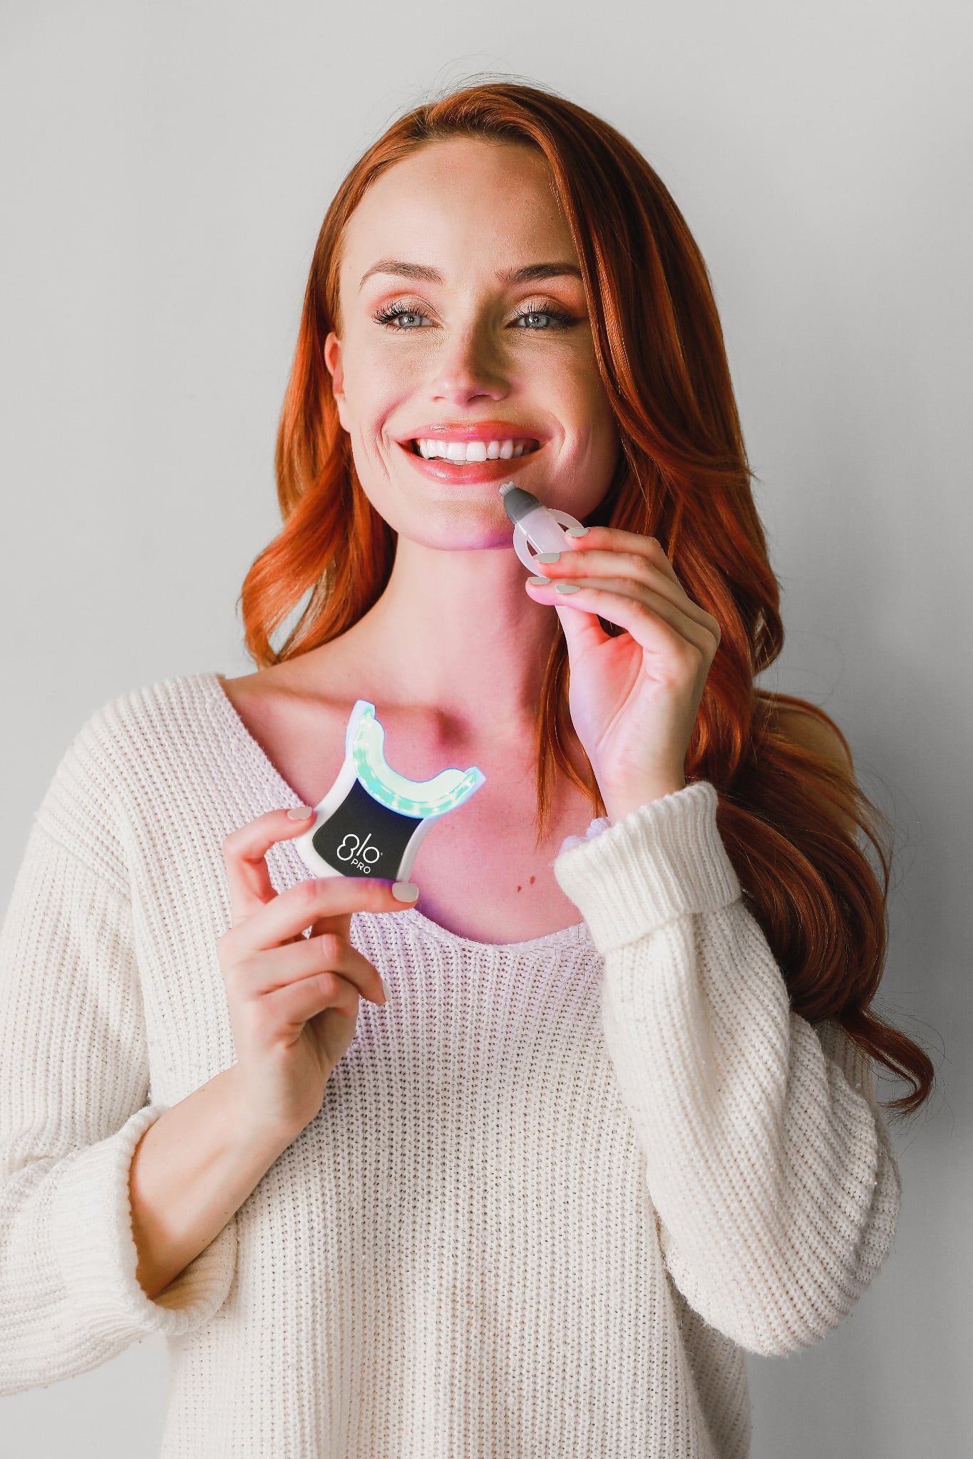
{"label": "cream white ribbed knit V-neck sweater worn by the woman", "polygon": [[[852,1310],[902,1188],[871,1064],[791,1013],[716,800],[567,837],[585,921],[547,937],[354,913],[388,1005],[150,1300],[131,1153],[235,1062],[220,843],[298,797],[216,674],[98,709],[0,929],[0,1393],[160,1334],[163,1459],[747,1455],[744,1352]],[[287,842],[268,864],[308,875]]]}

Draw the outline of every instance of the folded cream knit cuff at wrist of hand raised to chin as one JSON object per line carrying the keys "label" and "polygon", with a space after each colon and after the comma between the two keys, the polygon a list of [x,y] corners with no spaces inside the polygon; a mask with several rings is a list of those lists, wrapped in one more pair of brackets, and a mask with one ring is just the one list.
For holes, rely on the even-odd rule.
{"label": "folded cream knit cuff at wrist of hand raised to chin", "polygon": [[715,912],[740,897],[740,880],[716,829],[718,804],[710,781],[693,781],[636,807],[614,826],[598,817],[588,827],[589,839],[562,842],[554,877],[602,956],[674,918]]}

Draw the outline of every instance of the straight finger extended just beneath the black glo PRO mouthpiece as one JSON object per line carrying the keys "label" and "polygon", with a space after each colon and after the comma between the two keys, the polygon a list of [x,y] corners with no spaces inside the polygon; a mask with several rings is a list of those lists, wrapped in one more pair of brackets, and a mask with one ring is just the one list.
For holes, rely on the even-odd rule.
{"label": "straight finger extended just beneath the black glo PRO mouthpiece", "polygon": [[371,877],[311,877],[261,903],[247,921],[233,924],[222,941],[238,948],[276,947],[306,926],[347,935],[353,912],[401,912],[411,906],[392,896],[392,884]]}

